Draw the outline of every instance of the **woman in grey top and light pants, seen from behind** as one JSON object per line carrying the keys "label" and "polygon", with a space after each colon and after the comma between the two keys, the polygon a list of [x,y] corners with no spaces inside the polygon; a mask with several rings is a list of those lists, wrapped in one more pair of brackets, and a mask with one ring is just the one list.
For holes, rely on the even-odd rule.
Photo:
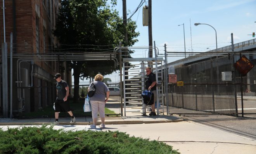
{"label": "woman in grey top and light pants, seen from behind", "polygon": [[[90,125],[91,128],[96,128],[97,118],[98,118],[98,112],[100,115],[100,128],[105,127],[105,104],[107,103],[107,100],[109,99],[109,88],[107,85],[102,82],[103,76],[101,74],[97,74],[94,77],[93,84],[96,87],[95,94],[90,98],[91,108],[92,108],[92,120],[93,125]],[[91,87],[88,87],[88,91]],[[107,98],[105,99],[105,94]]]}

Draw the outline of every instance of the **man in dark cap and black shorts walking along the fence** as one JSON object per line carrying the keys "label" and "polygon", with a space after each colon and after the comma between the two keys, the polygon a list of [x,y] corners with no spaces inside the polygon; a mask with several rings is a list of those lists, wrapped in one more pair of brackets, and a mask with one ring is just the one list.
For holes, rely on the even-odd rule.
{"label": "man in dark cap and black shorts walking along the fence", "polygon": [[70,123],[73,124],[76,122],[76,118],[74,117],[67,101],[67,96],[69,96],[69,88],[67,82],[61,79],[61,74],[59,73],[55,74],[54,79],[57,81],[57,98],[55,100],[55,122],[52,123],[52,125],[59,125],[60,112],[67,112],[71,116]]}

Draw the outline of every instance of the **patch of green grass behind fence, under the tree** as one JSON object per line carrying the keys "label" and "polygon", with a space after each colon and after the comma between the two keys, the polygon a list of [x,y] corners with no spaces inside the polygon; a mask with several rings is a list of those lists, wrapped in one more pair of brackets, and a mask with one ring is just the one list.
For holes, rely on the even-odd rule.
{"label": "patch of green grass behind fence, under the tree", "polygon": [[[71,111],[73,112],[74,116],[76,117],[92,116],[92,112],[83,111],[84,99],[80,99],[79,103],[72,103],[72,102],[73,102],[72,100],[69,100]],[[116,113],[112,110],[105,108],[105,115],[116,116]],[[69,117],[69,114],[59,113],[59,117]],[[53,108],[53,105],[49,105],[45,108],[42,108],[40,111],[22,113],[17,118],[54,118],[54,108]]]}

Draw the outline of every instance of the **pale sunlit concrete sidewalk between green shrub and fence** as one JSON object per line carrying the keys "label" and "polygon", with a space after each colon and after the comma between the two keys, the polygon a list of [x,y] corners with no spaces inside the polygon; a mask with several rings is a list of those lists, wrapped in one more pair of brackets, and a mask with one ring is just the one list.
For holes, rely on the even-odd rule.
{"label": "pale sunlit concrete sidewalk between green shrub and fence", "polygon": [[[126,110],[132,109],[126,108]],[[54,121],[54,118],[19,120],[0,118],[2,125],[0,128],[7,130],[22,125],[40,127]],[[92,117],[76,117],[74,125],[70,125],[69,121],[71,118],[59,118],[60,125],[54,126],[54,129],[126,132],[130,136],[164,142],[173,146],[173,149],[178,149],[182,154],[256,154],[255,139],[199,122],[183,121],[179,116],[142,116],[140,112],[126,112],[126,116],[106,117],[106,128],[99,128],[100,118],[98,118],[96,129],[90,128]]]}

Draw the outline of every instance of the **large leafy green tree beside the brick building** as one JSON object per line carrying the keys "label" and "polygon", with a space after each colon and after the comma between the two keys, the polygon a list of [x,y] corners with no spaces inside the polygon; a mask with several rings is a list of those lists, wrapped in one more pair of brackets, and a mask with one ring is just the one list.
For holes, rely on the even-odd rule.
{"label": "large leafy green tree beside the brick building", "polygon": [[[135,32],[135,21],[128,20],[123,26],[123,19],[114,9],[116,0],[62,0],[61,8],[54,30],[59,39],[58,51],[66,52],[106,52],[112,50],[121,41],[125,43],[124,29],[128,31],[128,46],[138,41]],[[90,44],[90,45],[84,45]],[[114,44],[114,45],[113,45]],[[113,50],[112,50],[113,51]],[[132,51],[129,51],[129,56]],[[117,57],[118,58],[118,57]],[[109,69],[104,69],[104,67]],[[68,63],[73,68],[74,85],[79,85],[79,79],[90,78],[99,72],[102,75],[111,74],[119,69],[113,61],[72,61]],[[92,69],[97,67],[97,69]],[[78,102],[79,87],[74,87],[74,102]]]}

